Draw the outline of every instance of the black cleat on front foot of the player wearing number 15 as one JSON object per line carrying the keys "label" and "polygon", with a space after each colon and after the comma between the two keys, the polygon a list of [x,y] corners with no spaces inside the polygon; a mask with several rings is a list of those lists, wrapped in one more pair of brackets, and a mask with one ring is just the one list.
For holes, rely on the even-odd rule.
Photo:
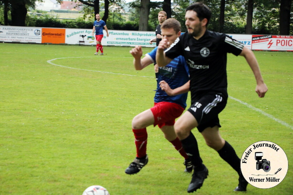
{"label": "black cleat on front foot of the player wearing number 15", "polygon": [[207,178],[209,175],[209,171],[207,170],[207,167],[204,166],[204,169],[202,171],[193,171],[191,182],[187,188],[187,192],[194,192],[197,189],[200,189],[202,187],[203,181]]}

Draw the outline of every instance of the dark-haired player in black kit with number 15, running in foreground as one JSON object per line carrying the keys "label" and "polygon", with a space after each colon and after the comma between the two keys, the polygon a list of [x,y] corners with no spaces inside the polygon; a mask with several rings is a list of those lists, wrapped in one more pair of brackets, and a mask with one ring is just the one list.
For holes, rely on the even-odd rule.
{"label": "dark-haired player in black kit with number 15, running in foreground", "polygon": [[[234,148],[225,141],[220,133],[218,114],[227,103],[227,53],[243,56],[251,67],[256,79],[256,93],[264,97],[268,88],[263,82],[258,62],[253,52],[226,34],[207,30],[211,11],[202,3],[188,6],[185,25],[188,33],[181,35],[167,48],[167,41],[159,43],[156,62],[165,66],[178,55],[183,55],[190,71],[191,106],[176,121],[175,132],[194,166],[194,173],[188,192],[199,189],[207,178],[207,167],[200,158],[197,141],[191,130],[197,127],[207,145],[216,150],[220,157],[239,174],[239,184],[234,191],[246,191],[248,182],[240,170],[240,159]],[[166,50],[165,50],[166,49]],[[165,52],[164,52],[165,50]]]}

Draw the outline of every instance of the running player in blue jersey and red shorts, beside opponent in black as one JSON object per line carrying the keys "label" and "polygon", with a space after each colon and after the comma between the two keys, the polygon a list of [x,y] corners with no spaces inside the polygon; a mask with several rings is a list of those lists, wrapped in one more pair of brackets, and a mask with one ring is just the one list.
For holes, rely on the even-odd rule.
{"label": "running player in blue jersey and red shorts, beside opponent in black", "polygon": [[[175,19],[166,20],[161,26],[161,35],[173,43],[181,34],[181,25]],[[136,46],[130,53],[134,57],[134,67],[142,70],[156,59],[157,47],[142,57],[142,47]],[[185,172],[192,171],[188,155],[175,134],[174,123],[186,107],[187,92],[189,90],[189,73],[184,57],[173,59],[166,67],[159,69],[159,82],[154,97],[154,107],[138,114],[132,120],[132,131],[135,137],[136,158],[125,170],[126,174],[138,173],[148,163],[147,156],[147,126],[158,125],[165,138],[170,141],[176,150],[185,158]],[[186,87],[187,86],[187,87]],[[173,89],[173,90],[172,90]],[[168,91],[168,92],[167,92]],[[185,92],[180,94],[181,92]],[[173,96],[169,96],[168,94]],[[179,95],[177,95],[179,94]]]}

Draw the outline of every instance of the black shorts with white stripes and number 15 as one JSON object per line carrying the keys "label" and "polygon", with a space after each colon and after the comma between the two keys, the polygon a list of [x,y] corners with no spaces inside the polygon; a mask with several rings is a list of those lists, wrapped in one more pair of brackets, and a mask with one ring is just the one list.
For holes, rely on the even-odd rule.
{"label": "black shorts with white stripes and number 15", "polygon": [[188,111],[197,120],[197,129],[202,132],[207,127],[219,126],[220,121],[218,114],[225,108],[227,98],[221,93],[207,94],[194,100]]}

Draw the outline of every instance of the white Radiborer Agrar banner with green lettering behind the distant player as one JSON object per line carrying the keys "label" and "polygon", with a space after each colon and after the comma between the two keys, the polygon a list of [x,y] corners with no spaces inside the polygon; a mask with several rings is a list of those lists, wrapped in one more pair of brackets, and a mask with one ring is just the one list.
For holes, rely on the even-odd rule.
{"label": "white Radiborer Agrar banner with green lettering behind the distant player", "polygon": [[[142,45],[145,47],[155,47],[156,44],[149,44],[149,41],[156,37],[155,32],[149,31],[127,31],[127,30],[108,30],[107,33],[103,30],[104,37],[102,45],[115,46],[135,46]],[[82,41],[82,42],[81,42]],[[83,42],[84,41],[84,42]],[[66,44],[84,44],[96,45],[96,37],[92,36],[92,29],[66,29],[65,31]]]}

